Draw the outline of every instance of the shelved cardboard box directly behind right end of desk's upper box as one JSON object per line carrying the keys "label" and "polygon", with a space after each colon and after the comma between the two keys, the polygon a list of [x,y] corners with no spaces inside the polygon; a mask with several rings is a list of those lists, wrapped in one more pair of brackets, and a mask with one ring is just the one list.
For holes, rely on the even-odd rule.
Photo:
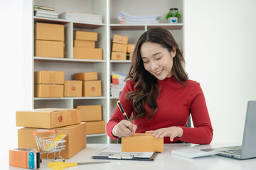
{"label": "shelved cardboard box directly behind right end of desk's upper box", "polygon": [[81,121],[100,121],[102,120],[101,105],[75,106],[81,110]]}

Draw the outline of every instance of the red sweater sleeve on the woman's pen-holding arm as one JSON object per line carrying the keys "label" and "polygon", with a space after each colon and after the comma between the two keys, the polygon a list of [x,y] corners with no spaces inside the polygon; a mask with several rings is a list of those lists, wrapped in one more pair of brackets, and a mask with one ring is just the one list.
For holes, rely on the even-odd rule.
{"label": "red sweater sleeve on the woman's pen-holding arm", "polygon": [[[119,97],[119,101],[122,103],[122,106],[124,108],[125,113],[127,113],[127,117],[130,118],[132,115],[133,107],[132,107],[132,101],[125,98],[125,94],[129,91],[133,91],[134,87],[134,81],[129,80],[126,82],[124,89],[122,90],[122,94]],[[116,106],[114,109],[114,113],[111,116],[110,120],[107,123],[107,135],[112,138],[113,140],[117,140],[118,137],[114,137],[112,134],[112,129],[114,128],[114,125],[117,125],[121,120],[125,119],[124,115],[120,111],[120,109]]]}

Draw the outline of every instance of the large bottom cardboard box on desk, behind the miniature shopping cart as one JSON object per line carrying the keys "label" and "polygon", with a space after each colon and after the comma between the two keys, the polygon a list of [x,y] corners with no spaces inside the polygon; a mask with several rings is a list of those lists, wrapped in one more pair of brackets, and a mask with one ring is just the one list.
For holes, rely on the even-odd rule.
{"label": "large bottom cardboard box on desk, behind the miniature shopping cart", "polygon": [[[86,147],[86,123],[80,123],[78,125],[65,126],[63,128],[55,128],[56,135],[67,135],[64,140],[65,150],[60,152],[60,156],[64,159],[70,159],[80,150]],[[18,130],[18,147],[30,147],[38,149],[36,145],[33,132],[44,131],[36,128],[22,128]],[[39,134],[40,135],[40,134]],[[38,136],[39,136],[38,135]],[[53,135],[51,132],[41,134],[44,137]],[[40,136],[41,137],[41,136]],[[57,153],[58,155],[58,153]],[[53,159],[53,153],[49,154],[50,159]],[[46,158],[46,154],[41,154],[40,157]]]}

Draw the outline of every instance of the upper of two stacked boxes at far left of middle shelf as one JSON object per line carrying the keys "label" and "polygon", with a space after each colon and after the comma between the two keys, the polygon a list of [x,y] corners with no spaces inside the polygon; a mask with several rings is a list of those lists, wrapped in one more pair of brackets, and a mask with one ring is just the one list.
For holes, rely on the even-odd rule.
{"label": "upper of two stacked boxes at far left of middle shelf", "polygon": [[34,72],[35,84],[64,84],[64,72],[38,71]]}

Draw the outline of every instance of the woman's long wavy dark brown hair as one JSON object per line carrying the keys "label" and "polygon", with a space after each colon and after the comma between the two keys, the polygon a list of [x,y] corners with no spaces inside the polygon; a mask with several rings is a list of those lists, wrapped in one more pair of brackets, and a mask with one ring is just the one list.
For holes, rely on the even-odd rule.
{"label": "woman's long wavy dark brown hair", "polygon": [[162,47],[169,50],[169,52],[171,52],[173,48],[176,49],[176,56],[173,58],[174,64],[172,67],[174,77],[180,84],[185,86],[185,84],[182,82],[188,80],[188,74],[184,69],[185,60],[181,54],[181,50],[169,30],[161,27],[154,27],[150,28],[142,34],[137,42],[136,47],[134,48],[132,65],[125,79],[126,81],[128,79],[135,81],[137,84],[134,86],[134,89],[136,90],[130,91],[125,95],[125,97],[132,101],[135,113],[134,119],[142,118],[146,115],[146,103],[152,111],[149,115],[150,120],[153,118],[153,115],[157,110],[156,98],[160,94],[161,87],[159,86],[156,77],[154,77],[144,68],[142,56],[140,53],[142,44],[144,42],[158,43]]}

